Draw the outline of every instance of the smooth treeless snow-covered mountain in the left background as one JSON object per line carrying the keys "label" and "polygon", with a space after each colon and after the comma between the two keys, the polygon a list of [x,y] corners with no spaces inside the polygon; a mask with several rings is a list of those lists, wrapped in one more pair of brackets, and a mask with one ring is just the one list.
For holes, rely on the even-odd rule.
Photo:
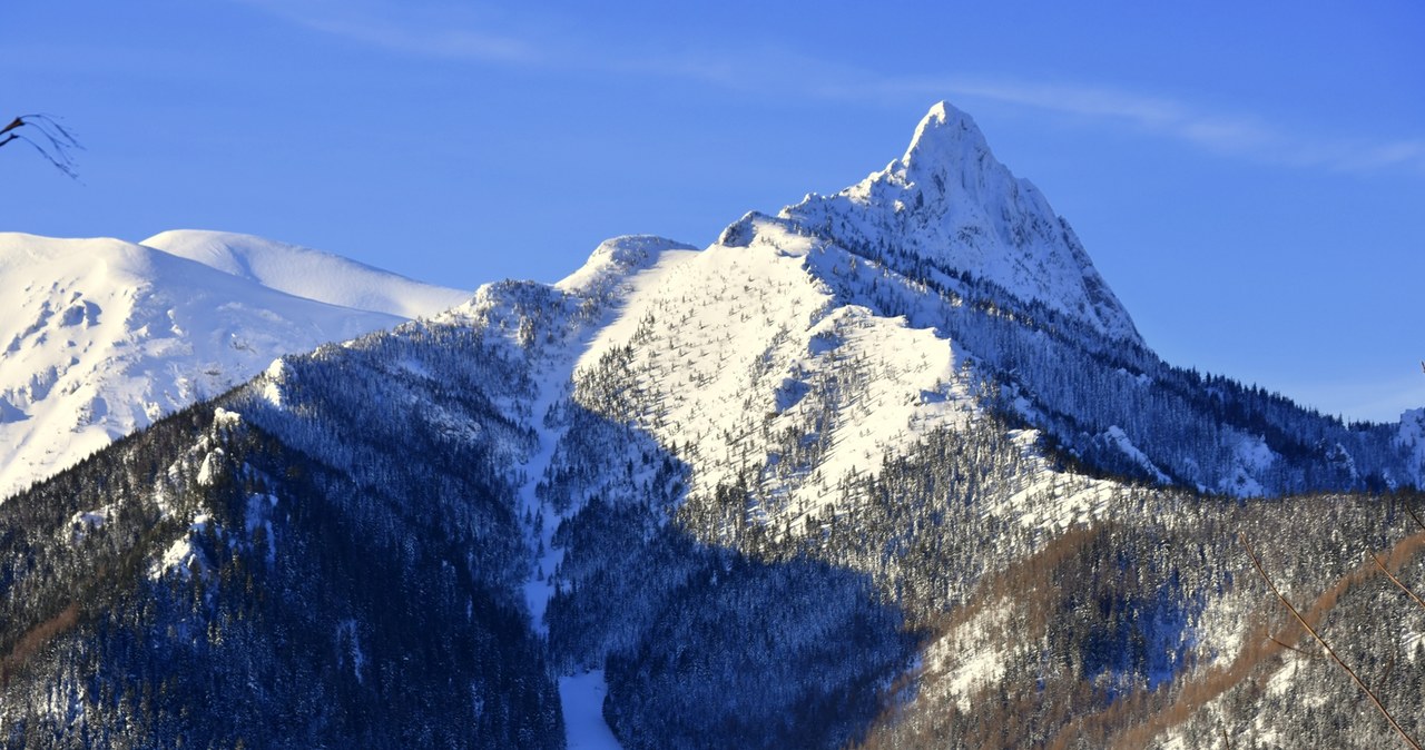
{"label": "smooth treeless snow-covered mountain in the left background", "polygon": [[[192,241],[182,245],[192,250],[204,236],[170,239]],[[274,357],[433,315],[466,296],[238,239],[225,258],[248,262],[251,273],[117,239],[0,233],[0,498],[222,393]],[[298,286],[304,276],[322,286]]]}

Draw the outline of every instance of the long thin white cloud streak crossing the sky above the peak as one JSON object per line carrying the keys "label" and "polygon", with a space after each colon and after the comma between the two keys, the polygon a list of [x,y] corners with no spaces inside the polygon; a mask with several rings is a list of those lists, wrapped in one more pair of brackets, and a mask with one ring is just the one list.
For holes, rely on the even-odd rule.
{"label": "long thin white cloud streak crossing the sky above the peak", "polygon": [[[898,75],[811,58],[787,47],[643,53],[624,44],[580,38],[577,24],[544,38],[492,31],[500,26],[479,4],[383,0],[237,0],[308,28],[415,56],[606,71],[697,81],[738,91],[859,102],[950,98],[985,100],[1063,117],[1130,127],[1218,155],[1337,172],[1408,171],[1425,175],[1425,139],[1368,141],[1307,135],[1258,117],[1218,112],[1188,102],[1094,85],[996,77]],[[509,21],[509,19],[504,19]],[[503,26],[512,26],[504,23]],[[539,24],[524,24],[526,28]]]}

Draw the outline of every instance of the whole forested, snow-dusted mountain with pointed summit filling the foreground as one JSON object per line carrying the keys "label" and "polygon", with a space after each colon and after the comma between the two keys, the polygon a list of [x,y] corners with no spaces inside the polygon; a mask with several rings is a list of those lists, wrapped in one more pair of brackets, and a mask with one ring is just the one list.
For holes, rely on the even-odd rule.
{"label": "whole forested, snow-dusted mountain with pointed summit filling the foreground", "polygon": [[626,749],[1381,747],[1243,542],[1419,737],[1425,609],[1365,556],[1425,588],[1419,421],[1163,363],[940,104],[836,195],[284,356],[0,504],[0,741],[566,747],[594,685]]}

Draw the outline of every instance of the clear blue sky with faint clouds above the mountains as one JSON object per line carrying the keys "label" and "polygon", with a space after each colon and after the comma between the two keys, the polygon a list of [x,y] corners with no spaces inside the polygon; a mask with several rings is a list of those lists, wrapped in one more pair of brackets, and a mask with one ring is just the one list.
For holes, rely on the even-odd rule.
{"label": "clear blue sky with faint clouds above the mountains", "polygon": [[[249,232],[473,287],[705,245],[938,100],[1073,223],[1168,361],[1348,418],[1425,406],[1425,4],[26,3],[0,229]],[[993,7],[988,7],[993,6]]]}

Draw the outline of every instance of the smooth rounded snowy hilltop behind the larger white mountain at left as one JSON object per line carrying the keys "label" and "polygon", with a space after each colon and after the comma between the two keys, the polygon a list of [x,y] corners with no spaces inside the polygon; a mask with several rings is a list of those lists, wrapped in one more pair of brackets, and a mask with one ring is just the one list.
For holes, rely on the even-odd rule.
{"label": "smooth rounded snowy hilltop behind the larger white mountain at left", "polygon": [[435,315],[470,297],[463,289],[416,282],[339,255],[252,235],[175,229],[141,245],[298,297],[400,317]]}

